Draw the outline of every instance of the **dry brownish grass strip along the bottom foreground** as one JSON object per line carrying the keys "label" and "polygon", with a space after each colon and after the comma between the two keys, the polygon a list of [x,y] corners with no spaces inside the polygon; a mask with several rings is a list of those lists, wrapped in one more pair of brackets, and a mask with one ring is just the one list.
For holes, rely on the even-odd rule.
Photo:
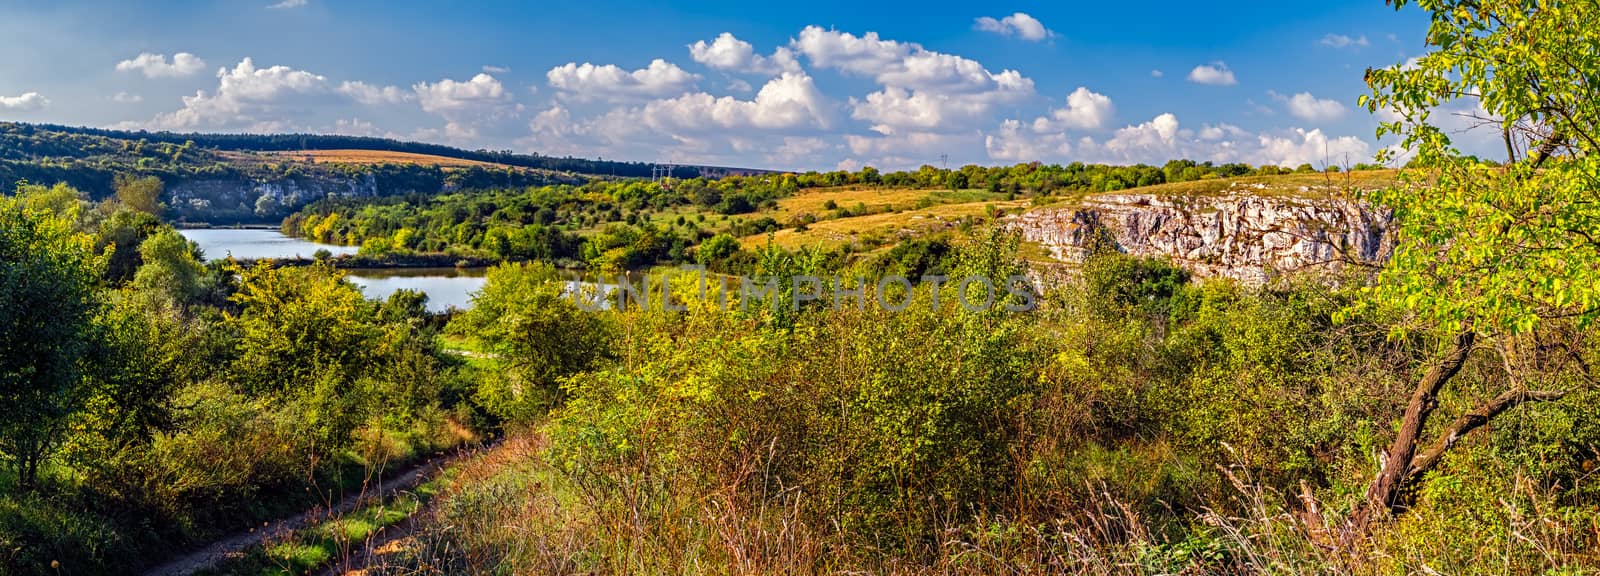
{"label": "dry brownish grass strip along the bottom foreground", "polygon": [[[798,506],[805,496],[787,490],[754,501],[733,485],[694,498],[618,501],[632,490],[605,491],[610,496],[582,490],[546,458],[546,438],[528,434],[459,466],[418,538],[395,544],[403,550],[387,555],[392,563],[368,573],[1376,576],[1438,574],[1440,560],[1454,554],[1443,538],[1397,538],[1402,525],[1338,546],[1320,522],[1283,504],[1291,498],[1238,469],[1222,470],[1232,512],[1195,510],[1189,538],[1152,530],[1112,490],[1088,485],[1083,501],[1058,512],[1024,507],[952,518],[936,542],[893,552],[853,544],[861,534],[838,533],[827,522],[808,522]],[[1546,550],[1544,558],[1490,554],[1472,566],[1507,574],[1533,574],[1534,566],[1550,568],[1547,574],[1592,573],[1582,566],[1594,565],[1594,552],[1573,533],[1582,526],[1549,517],[1523,520],[1509,528]]]}

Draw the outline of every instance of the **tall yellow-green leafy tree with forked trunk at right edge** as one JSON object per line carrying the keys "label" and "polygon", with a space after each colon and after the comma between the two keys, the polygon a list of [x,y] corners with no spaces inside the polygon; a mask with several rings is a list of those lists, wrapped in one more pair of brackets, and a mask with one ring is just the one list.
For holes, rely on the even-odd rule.
{"label": "tall yellow-green leafy tree with forked trunk at right edge", "polygon": [[[1600,99],[1592,93],[1600,8],[1531,0],[1419,6],[1432,16],[1430,51],[1414,66],[1368,70],[1371,94],[1362,99],[1368,110],[1398,117],[1379,136],[1400,134],[1416,166],[1371,197],[1394,210],[1397,246],[1370,302],[1410,310],[1451,336],[1411,392],[1384,464],[1352,514],[1357,528],[1382,510],[1403,510],[1464,435],[1525,402],[1570,392],[1523,384],[1517,350],[1542,325],[1590,328],[1600,318]],[[1461,98],[1501,118],[1504,165],[1462,155],[1434,123],[1438,106]],[[1424,443],[1440,392],[1477,350],[1496,354],[1515,384]]]}

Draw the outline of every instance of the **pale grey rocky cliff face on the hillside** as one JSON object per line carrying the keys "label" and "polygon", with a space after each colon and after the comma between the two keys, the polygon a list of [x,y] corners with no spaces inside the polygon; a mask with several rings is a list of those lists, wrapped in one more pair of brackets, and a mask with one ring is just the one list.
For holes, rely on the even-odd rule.
{"label": "pale grey rocky cliff face on the hillside", "polygon": [[1197,277],[1245,283],[1387,259],[1389,224],[1387,211],[1354,198],[1259,184],[1194,197],[1099,194],[1011,218],[1024,240],[1067,262],[1082,261],[1104,232],[1128,254],[1162,256]]}

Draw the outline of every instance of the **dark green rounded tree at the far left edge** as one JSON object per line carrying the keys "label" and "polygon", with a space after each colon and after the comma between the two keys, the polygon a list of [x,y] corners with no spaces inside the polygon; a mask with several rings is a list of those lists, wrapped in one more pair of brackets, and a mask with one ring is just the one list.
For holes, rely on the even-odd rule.
{"label": "dark green rounded tree at the far left edge", "polygon": [[0,198],[0,451],[22,486],[80,406],[101,266],[66,219]]}

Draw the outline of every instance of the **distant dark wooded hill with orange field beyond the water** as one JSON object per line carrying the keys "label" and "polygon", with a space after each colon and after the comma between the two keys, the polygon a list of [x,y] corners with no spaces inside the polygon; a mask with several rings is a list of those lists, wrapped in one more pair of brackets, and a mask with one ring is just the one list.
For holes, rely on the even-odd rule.
{"label": "distant dark wooded hill with orange field beyond the water", "polygon": [[[763,170],[677,166],[675,178]],[[94,198],[118,174],[158,176],[171,216],[205,222],[275,222],[330,197],[442,194],[589,179],[650,178],[651,165],[462,150],[386,138],[328,134],[181,134],[0,122],[0,189],[67,182]]]}

